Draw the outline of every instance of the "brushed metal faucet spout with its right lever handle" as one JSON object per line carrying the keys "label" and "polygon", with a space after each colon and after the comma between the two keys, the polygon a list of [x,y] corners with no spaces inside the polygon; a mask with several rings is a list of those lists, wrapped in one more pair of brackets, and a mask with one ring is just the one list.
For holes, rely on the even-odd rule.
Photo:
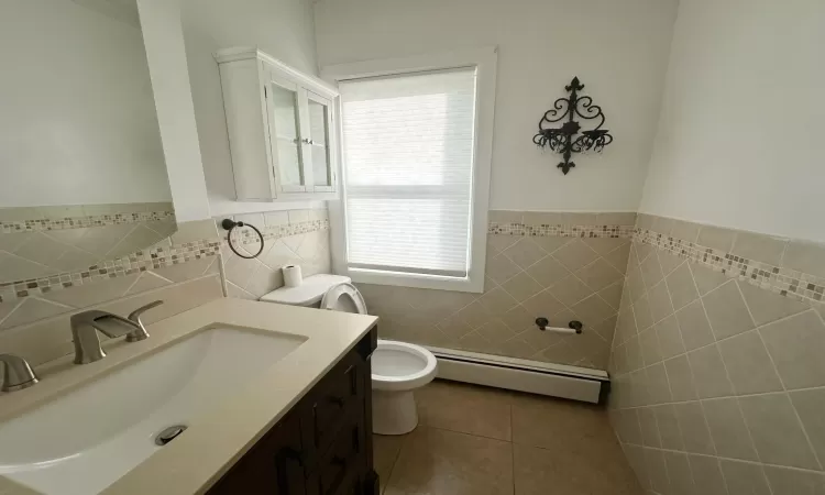
{"label": "brushed metal faucet spout with its right lever handle", "polygon": [[150,302],[123,318],[107,311],[92,309],[72,317],[72,338],[75,341],[75,364],[88,364],[106,358],[100,348],[98,331],[110,339],[127,336],[127,342],[138,342],[148,338],[141,315],[147,309],[161,306],[162,300]]}

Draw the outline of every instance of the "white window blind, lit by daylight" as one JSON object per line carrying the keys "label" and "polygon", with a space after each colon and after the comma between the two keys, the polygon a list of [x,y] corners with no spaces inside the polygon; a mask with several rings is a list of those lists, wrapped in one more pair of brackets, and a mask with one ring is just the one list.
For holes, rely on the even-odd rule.
{"label": "white window blind, lit by daylight", "polygon": [[475,69],[342,81],[351,268],[465,277]]}

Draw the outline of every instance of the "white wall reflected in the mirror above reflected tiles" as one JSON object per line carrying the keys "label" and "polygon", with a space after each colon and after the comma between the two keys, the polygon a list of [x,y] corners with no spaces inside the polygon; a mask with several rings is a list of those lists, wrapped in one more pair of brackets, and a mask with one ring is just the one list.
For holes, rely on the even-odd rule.
{"label": "white wall reflected in the mirror above reflected tiles", "polygon": [[0,207],[170,199],[139,28],[0,2]]}

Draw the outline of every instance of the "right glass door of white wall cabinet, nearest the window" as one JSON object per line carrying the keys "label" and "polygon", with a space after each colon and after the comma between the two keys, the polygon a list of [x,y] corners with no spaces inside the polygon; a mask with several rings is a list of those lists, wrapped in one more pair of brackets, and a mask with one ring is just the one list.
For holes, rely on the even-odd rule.
{"label": "right glass door of white wall cabinet, nearest the window", "polygon": [[312,190],[333,191],[334,176],[331,157],[331,101],[307,91],[309,113],[309,147],[312,160]]}

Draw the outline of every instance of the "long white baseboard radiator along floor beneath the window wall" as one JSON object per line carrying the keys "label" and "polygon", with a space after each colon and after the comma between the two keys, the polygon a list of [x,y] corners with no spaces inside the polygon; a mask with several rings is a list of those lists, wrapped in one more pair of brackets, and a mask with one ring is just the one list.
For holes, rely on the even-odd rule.
{"label": "long white baseboard radiator along floor beneath the window wall", "polygon": [[430,348],[438,377],[454,382],[603,404],[610,391],[607,372],[564,364]]}

